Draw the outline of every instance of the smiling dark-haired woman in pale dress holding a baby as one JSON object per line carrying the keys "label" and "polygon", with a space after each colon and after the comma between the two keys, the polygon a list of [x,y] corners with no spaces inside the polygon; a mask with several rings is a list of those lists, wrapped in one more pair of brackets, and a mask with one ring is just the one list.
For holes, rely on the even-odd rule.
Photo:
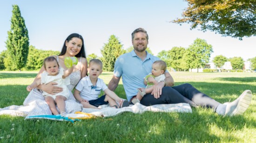
{"label": "smiling dark-haired woman in pale dress holding a baby", "polygon": [[[67,69],[64,64],[64,59],[67,56],[75,56],[78,59],[77,65],[74,67],[73,72],[69,75],[70,85],[68,85],[70,97],[65,101],[66,103],[66,111],[67,113],[74,113],[76,111],[81,111],[81,104],[77,103],[74,99],[74,95],[72,94],[72,90],[76,86],[76,84],[80,81],[81,78],[87,75],[87,59],[85,55],[84,41],[81,35],[77,33],[73,33],[69,35],[62,47],[61,54],[59,56],[54,56],[60,67]],[[34,79],[33,83],[40,83],[41,73],[44,71],[44,67],[42,67]],[[56,87],[57,83],[51,82],[47,85],[41,84],[38,85],[37,89],[33,89],[25,99],[23,105],[31,106],[32,110],[28,112],[28,116],[31,115],[44,115],[44,114],[52,114],[51,110],[47,106],[47,103],[42,96],[42,91],[45,91],[49,94],[56,94],[62,91],[61,87]]]}

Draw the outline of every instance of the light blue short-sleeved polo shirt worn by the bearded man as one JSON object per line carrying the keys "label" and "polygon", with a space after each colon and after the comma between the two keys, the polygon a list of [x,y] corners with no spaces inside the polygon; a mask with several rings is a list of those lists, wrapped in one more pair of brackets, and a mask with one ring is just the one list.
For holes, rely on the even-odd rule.
{"label": "light blue short-sleeved polo shirt worn by the bearded man", "polygon": [[[147,52],[147,51],[146,51]],[[144,77],[151,73],[153,62],[160,60],[147,52],[144,61],[132,50],[119,56],[115,61],[114,75],[122,77],[124,90],[128,101],[137,95],[137,88],[146,87]]]}

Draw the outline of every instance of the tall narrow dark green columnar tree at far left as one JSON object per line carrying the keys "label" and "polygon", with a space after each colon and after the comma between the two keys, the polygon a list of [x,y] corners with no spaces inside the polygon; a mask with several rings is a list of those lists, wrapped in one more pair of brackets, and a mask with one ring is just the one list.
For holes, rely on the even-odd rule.
{"label": "tall narrow dark green columnar tree at far left", "polygon": [[21,70],[26,65],[28,46],[29,46],[28,31],[25,25],[25,20],[21,17],[20,8],[13,5],[13,16],[11,19],[11,30],[8,31],[6,41],[7,54],[10,57],[11,66]]}

